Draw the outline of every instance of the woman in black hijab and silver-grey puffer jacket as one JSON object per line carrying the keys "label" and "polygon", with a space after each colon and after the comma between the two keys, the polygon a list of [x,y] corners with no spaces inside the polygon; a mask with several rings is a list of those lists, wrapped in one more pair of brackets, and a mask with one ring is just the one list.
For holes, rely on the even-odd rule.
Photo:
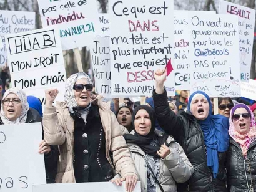
{"label": "woman in black hijab and silver-grey puffer jacket", "polygon": [[174,138],[155,130],[151,107],[136,107],[132,123],[134,130],[124,138],[139,173],[141,191],[177,191],[176,182],[184,183],[194,172],[184,150]]}

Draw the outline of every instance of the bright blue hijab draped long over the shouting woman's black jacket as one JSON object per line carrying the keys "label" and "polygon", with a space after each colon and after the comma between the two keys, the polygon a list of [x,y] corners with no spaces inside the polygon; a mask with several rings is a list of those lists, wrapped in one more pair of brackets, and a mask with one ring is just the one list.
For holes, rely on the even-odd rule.
{"label": "bright blue hijab draped long over the shouting woman's black jacket", "polygon": [[203,95],[209,103],[209,114],[205,120],[197,120],[204,133],[204,143],[207,148],[207,166],[212,168],[214,178],[219,170],[218,152],[225,152],[229,148],[229,119],[222,115],[212,115],[210,98],[205,92],[197,91],[189,97],[188,110],[195,94]]}

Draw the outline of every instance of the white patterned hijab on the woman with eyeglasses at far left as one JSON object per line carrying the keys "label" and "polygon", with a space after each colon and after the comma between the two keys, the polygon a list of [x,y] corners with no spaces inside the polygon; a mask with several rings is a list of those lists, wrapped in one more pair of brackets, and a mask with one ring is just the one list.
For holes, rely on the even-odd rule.
{"label": "white patterned hijab on the woman with eyeglasses at far left", "polygon": [[27,95],[22,89],[10,88],[6,90],[6,92],[4,93],[4,97],[2,97],[2,100],[4,100],[7,97],[7,95],[11,93],[17,95],[17,97],[19,97],[19,100],[21,100],[21,107],[22,107],[21,115],[14,121],[7,119],[7,117],[4,115],[4,105],[2,104],[1,112],[0,112],[2,123],[4,123],[4,125],[26,123],[27,112],[29,111],[29,103],[27,102]]}

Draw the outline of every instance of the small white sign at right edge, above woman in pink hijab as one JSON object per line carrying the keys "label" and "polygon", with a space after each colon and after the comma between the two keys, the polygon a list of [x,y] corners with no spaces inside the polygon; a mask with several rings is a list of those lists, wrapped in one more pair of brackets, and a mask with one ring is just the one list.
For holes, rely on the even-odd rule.
{"label": "small white sign at right edge, above woman in pink hijab", "polygon": [[256,80],[250,79],[249,82],[241,82],[241,95],[256,100]]}

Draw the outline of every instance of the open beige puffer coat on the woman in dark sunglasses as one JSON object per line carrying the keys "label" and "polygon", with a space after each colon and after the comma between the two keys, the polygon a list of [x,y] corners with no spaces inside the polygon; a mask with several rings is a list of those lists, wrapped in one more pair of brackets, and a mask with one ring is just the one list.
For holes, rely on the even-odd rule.
{"label": "open beige puffer coat on the woman in dark sunglasses", "polygon": [[[109,103],[97,102],[101,116],[102,127],[106,135],[106,158],[122,178],[127,175],[137,176],[134,161],[130,157],[122,132],[124,127],[119,125],[114,113],[109,108]],[[66,103],[57,102],[56,107],[45,107],[44,140],[49,145],[59,145],[59,163],[57,165],[56,183],[75,183],[73,167],[74,148],[74,120],[69,114]],[[113,153],[114,165],[109,156]]]}

